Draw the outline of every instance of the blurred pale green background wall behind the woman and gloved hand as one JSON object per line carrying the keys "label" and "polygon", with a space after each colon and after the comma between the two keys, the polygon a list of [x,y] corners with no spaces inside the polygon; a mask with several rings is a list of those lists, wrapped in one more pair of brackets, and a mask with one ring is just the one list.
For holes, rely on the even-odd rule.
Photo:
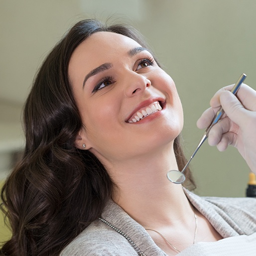
{"label": "blurred pale green background wall behind the woman and gloved hand", "polygon": [[[34,74],[76,21],[111,18],[145,36],[178,88],[190,157],[203,133],[196,121],[214,93],[241,73],[256,89],[255,12],[255,0],[1,0],[0,180],[24,145],[20,116]],[[205,143],[191,168],[199,195],[245,196],[250,169],[235,148]],[[0,219],[0,241],[8,236]]]}

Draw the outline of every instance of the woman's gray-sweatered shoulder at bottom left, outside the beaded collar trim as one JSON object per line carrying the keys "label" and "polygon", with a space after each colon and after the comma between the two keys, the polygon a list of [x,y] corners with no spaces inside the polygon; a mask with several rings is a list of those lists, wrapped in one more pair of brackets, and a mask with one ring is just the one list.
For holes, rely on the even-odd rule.
{"label": "woman's gray-sweatered shoulder at bottom left, outside the beaded collar trim", "polygon": [[100,220],[79,234],[60,256],[137,256],[126,238]]}

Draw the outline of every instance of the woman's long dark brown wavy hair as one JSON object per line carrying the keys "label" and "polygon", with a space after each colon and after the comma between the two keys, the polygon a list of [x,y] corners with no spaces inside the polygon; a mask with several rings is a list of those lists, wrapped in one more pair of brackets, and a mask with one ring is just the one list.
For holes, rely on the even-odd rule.
{"label": "woman's long dark brown wavy hair", "polygon": [[[131,27],[87,19],[75,24],[46,57],[24,107],[22,159],[1,191],[1,210],[12,230],[1,255],[59,255],[100,217],[112,196],[114,183],[103,164],[90,151],[74,146],[82,121],[68,79],[73,51],[98,31],[128,36],[148,48]],[[186,159],[179,137],[174,150],[182,169]],[[193,187],[188,169],[186,176],[185,186]]]}

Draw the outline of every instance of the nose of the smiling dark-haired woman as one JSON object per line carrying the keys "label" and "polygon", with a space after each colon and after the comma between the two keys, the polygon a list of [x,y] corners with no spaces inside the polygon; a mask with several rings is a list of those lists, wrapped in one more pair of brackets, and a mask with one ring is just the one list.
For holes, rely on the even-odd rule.
{"label": "nose of the smiling dark-haired woman", "polygon": [[126,95],[133,97],[137,93],[145,91],[145,89],[151,86],[151,81],[142,74],[131,71],[131,74],[126,78]]}

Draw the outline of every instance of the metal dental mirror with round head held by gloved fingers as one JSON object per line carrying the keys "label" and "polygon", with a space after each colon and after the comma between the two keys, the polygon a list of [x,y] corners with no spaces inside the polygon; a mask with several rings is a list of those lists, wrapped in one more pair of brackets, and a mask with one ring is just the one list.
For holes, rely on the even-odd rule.
{"label": "metal dental mirror with round head held by gloved fingers", "polygon": [[[240,88],[240,86],[242,85],[242,83],[245,81],[246,79],[246,74],[242,74],[237,83],[234,85],[233,89],[231,90],[231,92],[236,95],[238,89]],[[204,143],[204,141],[207,139],[208,134],[210,129],[218,123],[218,121],[220,120],[220,118],[222,117],[222,115],[224,114],[224,110],[222,109],[222,107],[220,107],[220,109],[217,111],[217,113],[215,114],[212,123],[210,124],[210,126],[205,130],[202,138],[200,139],[196,149],[194,150],[194,152],[192,153],[190,159],[188,160],[188,162],[186,163],[186,165],[184,166],[184,168],[182,169],[182,171],[178,171],[178,170],[171,170],[167,172],[167,178],[176,184],[181,184],[185,181],[186,177],[184,175],[184,171],[186,170],[188,164],[190,163],[190,161],[192,160],[192,158],[195,156],[196,152],[198,151],[198,149],[200,148],[200,146]]]}

